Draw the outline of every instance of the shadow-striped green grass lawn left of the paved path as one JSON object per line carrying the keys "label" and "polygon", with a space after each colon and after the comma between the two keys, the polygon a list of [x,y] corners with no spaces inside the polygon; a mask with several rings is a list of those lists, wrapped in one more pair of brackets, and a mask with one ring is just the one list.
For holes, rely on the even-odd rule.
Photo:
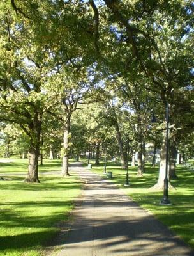
{"label": "shadow-striped green grass lawn left of the paved path", "polygon": [[61,161],[45,160],[40,166],[40,184],[26,184],[27,160],[10,159],[0,163],[1,173],[11,180],[0,181],[0,255],[38,256],[43,246],[58,231],[57,223],[68,220],[73,200],[80,193],[81,182],[74,174],[41,175],[43,172],[60,171]]}

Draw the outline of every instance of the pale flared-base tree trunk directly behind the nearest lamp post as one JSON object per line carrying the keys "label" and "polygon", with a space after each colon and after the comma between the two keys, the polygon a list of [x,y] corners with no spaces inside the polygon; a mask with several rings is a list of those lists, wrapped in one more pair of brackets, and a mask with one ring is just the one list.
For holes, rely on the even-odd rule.
{"label": "pale flared-base tree trunk directly behind the nearest lamp post", "polygon": [[[163,143],[161,145],[161,153],[160,153],[160,170],[158,176],[158,182],[151,188],[155,190],[163,190],[164,188],[164,179],[165,179],[165,171],[166,171],[166,132],[163,132]],[[168,163],[168,180],[169,180],[169,163]],[[174,189],[174,187],[168,183],[169,189]]]}

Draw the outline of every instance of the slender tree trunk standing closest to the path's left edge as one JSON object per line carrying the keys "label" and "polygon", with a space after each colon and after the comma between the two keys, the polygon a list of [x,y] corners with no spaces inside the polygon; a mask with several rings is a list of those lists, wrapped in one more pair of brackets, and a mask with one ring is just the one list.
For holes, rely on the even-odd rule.
{"label": "slender tree trunk standing closest to the path's left edge", "polygon": [[70,134],[70,125],[71,125],[71,116],[66,118],[66,122],[64,125],[64,135],[63,135],[63,164],[62,164],[62,175],[70,176],[68,162],[69,162],[69,134]]}

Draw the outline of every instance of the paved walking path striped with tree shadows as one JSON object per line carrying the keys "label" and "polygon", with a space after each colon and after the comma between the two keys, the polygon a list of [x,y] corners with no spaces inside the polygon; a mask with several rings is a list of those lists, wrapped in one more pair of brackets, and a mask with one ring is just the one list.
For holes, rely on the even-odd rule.
{"label": "paved walking path striped with tree shadows", "polygon": [[[186,256],[194,252],[112,182],[75,166],[86,182],[57,256]],[[158,206],[159,207],[159,206]]]}

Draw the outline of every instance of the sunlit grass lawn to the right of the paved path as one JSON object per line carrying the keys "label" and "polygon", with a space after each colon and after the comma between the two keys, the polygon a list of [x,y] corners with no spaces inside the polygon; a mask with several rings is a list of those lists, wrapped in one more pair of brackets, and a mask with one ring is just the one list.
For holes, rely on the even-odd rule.
{"label": "sunlit grass lawn to the right of the paved path", "polygon": [[[93,161],[91,161],[93,163]],[[103,164],[95,166],[94,172],[103,175]],[[124,187],[126,171],[121,170],[118,164],[107,163],[107,171],[113,172],[113,181],[124,189],[124,192],[133,198],[139,205],[154,213],[156,218],[167,225],[181,237],[186,243],[194,248],[194,172],[177,166],[178,179],[171,180],[176,188],[169,191],[169,199],[172,206],[159,205],[163,198],[163,191],[156,192],[149,189],[158,180],[158,167],[146,166],[144,177],[137,177],[137,167],[129,168],[130,187]]]}

